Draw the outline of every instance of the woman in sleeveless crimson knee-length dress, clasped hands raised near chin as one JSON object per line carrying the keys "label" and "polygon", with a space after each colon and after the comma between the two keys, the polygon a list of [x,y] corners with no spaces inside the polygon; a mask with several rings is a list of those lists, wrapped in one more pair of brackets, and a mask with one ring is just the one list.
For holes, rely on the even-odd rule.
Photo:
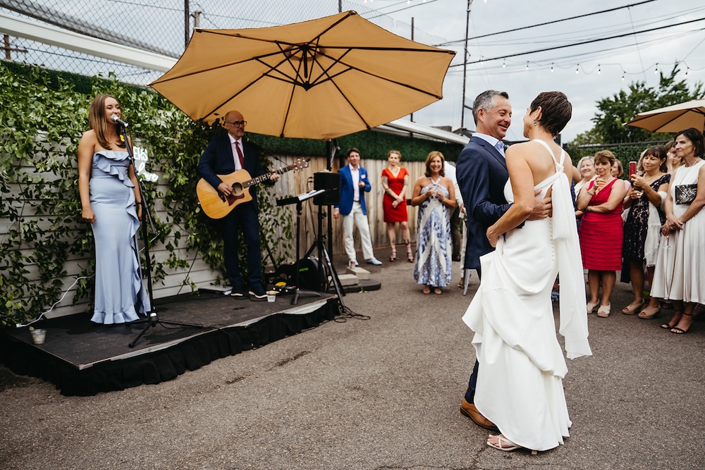
{"label": "woman in sleeveless crimson knee-length dress, clasped hands raised near chin", "polygon": [[[582,187],[576,207],[583,211],[580,222],[580,252],[587,271],[590,299],[587,313],[597,310],[597,316],[610,315],[610,296],[622,268],[623,221],[622,202],[627,194],[625,185],[611,174],[615,156],[609,150],[595,154],[597,177]],[[602,283],[602,297],[599,297]]]}

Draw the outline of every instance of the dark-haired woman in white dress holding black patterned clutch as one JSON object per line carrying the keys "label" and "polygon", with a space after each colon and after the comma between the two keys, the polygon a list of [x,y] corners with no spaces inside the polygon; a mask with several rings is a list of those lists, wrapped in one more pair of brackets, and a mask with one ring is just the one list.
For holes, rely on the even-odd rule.
{"label": "dark-haired woman in white dress holding black patterned clutch", "polygon": [[696,128],[678,132],[675,152],[682,166],[673,173],[666,197],[651,295],[673,301],[673,318],[662,328],[687,333],[697,304],[705,304],[705,150]]}

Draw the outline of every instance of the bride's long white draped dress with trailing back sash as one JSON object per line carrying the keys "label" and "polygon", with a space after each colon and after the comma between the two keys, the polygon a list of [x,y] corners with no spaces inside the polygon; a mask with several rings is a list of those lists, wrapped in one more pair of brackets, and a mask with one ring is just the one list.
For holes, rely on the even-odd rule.
{"label": "bride's long white draped dress with trailing back sash", "polygon": [[[537,142],[541,142],[537,140]],[[556,338],[551,287],[560,274],[560,329],[573,359],[591,355],[587,341],[585,284],[570,184],[556,173],[534,189],[551,192],[553,216],[526,221],[500,237],[480,258],[482,282],[463,321],[475,332],[479,375],[475,406],[506,438],[532,450],[563,444],[571,426],[563,394],[568,372]],[[505,197],[513,202],[511,181]]]}

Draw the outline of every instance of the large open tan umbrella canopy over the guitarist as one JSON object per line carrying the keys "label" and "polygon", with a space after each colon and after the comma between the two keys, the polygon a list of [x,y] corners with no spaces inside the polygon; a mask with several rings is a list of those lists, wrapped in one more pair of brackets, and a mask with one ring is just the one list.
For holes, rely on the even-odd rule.
{"label": "large open tan umbrella canopy over the guitarist", "polygon": [[348,11],[284,26],[197,29],[150,85],[193,120],[213,123],[237,110],[249,132],[330,140],[442,99],[454,54]]}

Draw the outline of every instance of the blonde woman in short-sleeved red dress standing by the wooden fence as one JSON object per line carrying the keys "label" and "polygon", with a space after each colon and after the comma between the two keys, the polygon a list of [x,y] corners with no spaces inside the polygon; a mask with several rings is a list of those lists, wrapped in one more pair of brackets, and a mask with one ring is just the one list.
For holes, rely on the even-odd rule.
{"label": "blonde woman in short-sleeved red dress standing by the wooden fence", "polygon": [[389,166],[382,170],[382,186],[384,187],[384,198],[382,199],[382,209],[384,209],[384,221],[387,224],[387,235],[389,245],[392,247],[392,254],[389,261],[396,260],[396,223],[401,225],[401,233],[406,245],[406,256],[410,263],[414,262],[414,254],[411,251],[411,235],[407,224],[406,211],[406,190],[409,185],[409,172],[399,165],[401,152],[390,150],[387,152]]}

